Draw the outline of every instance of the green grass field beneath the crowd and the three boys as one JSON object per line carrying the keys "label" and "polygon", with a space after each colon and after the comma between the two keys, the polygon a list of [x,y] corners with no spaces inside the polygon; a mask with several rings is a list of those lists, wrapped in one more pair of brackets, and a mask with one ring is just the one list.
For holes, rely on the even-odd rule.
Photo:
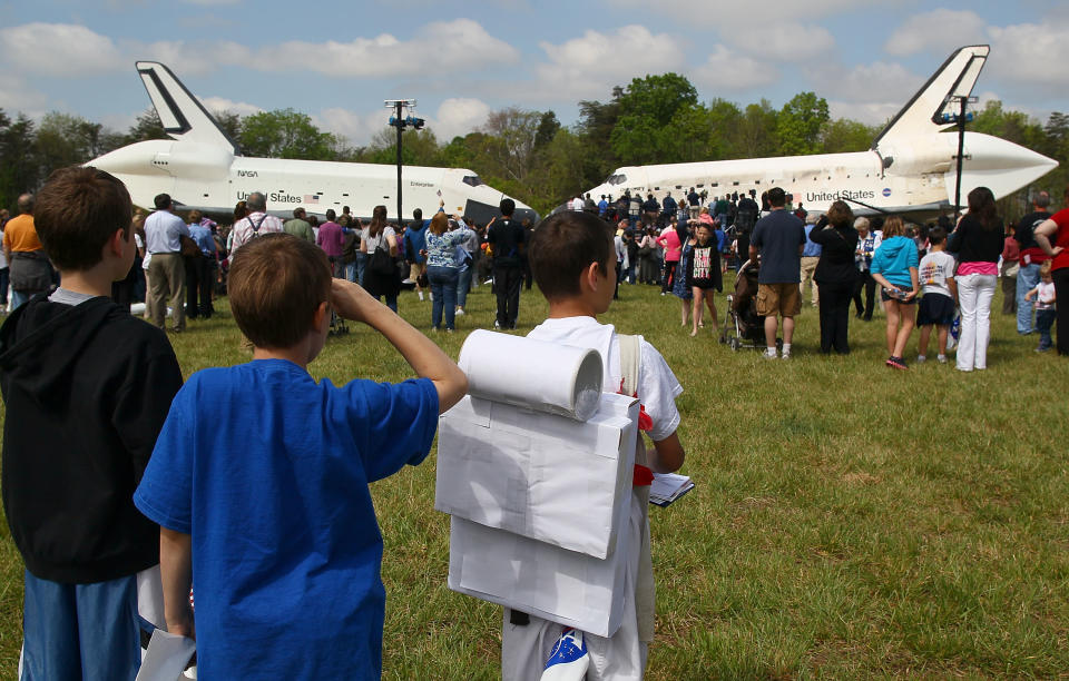
{"label": "green grass field beneath the crowd and the three boys", "polygon": [[[1032,352],[994,314],[989,369],[883,366],[883,318],[851,319],[849,357],[816,353],[816,312],[794,357],[767,362],[679,327],[679,303],[621,288],[602,318],[656,345],[685,388],[684,473],[697,488],[650,509],[657,640],[648,678],[1067,678],[1069,362]],[[723,318],[723,297],[720,313]],[[996,310],[1001,305],[997,295]],[[173,337],[184,373],[244,362],[225,312]],[[546,305],[524,292],[520,329]],[[401,312],[430,328],[414,294]],[[487,287],[454,358],[493,320]],[[401,357],[366,327],[332,338],[311,369],[396,381]],[[930,353],[934,355],[934,352]],[[426,462],[373,487],[385,537],[384,678],[499,677],[500,609],[445,586],[449,525]],[[21,640],[22,564],[0,526],[0,678]]]}

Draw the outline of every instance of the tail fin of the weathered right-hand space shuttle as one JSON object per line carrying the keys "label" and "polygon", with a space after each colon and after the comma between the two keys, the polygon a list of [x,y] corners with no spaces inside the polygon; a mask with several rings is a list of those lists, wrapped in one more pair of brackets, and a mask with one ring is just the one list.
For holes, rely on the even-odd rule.
{"label": "tail fin of the weathered right-hand space shuttle", "polygon": [[948,99],[954,96],[968,97],[972,92],[990,51],[991,48],[987,45],[959,48],[891,119],[887,127],[873,140],[872,148],[877,149],[881,141],[925,135],[945,128],[948,124],[942,121],[943,112],[955,110],[953,102],[948,102]]}

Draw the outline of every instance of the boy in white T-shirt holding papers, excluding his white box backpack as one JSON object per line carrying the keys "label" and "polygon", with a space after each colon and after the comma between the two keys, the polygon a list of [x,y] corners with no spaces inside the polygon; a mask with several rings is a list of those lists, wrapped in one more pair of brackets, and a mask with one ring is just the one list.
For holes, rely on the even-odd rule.
{"label": "boy in white T-shirt holding papers, excluding his white box backpack", "polygon": [[[631,533],[627,561],[624,622],[610,638],[566,629],[560,624],[506,609],[501,673],[506,681],[537,680],[547,667],[579,664],[587,658],[588,681],[641,679],[647,647],[654,638],[654,578],[647,516],[653,473],[670,473],[684,462],[676,430],[675,399],[683,392],[668,364],[641,337],[626,343],[612,325],[597,317],[609,309],[616,288],[616,254],[611,228],[595,215],[562,211],[534,230],[529,257],[534,282],[549,302],[549,318],[528,335],[539,340],[597,349],[604,359],[604,386],[635,394],[649,416],[646,434],[653,447],[636,452],[634,492],[622,531]],[[632,343],[637,338],[637,344]],[[634,351],[627,349],[635,347]],[[637,366],[637,376],[634,373]],[[641,438],[639,438],[641,443]],[[577,512],[581,500],[576,500]],[[581,652],[575,660],[568,653]]]}

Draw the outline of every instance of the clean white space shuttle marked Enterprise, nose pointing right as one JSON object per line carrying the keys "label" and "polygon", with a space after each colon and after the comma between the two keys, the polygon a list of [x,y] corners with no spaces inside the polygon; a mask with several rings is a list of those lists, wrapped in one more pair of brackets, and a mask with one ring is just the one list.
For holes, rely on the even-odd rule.
{"label": "clean white space shuttle marked Enterprise, nose pointing right", "polygon": [[[166,66],[138,61],[137,72],[170,137],[136,142],[105,154],[87,165],[115,175],[126,184],[137,206],[151,207],[158,194],[169,194],[182,210],[233,215],[237,201],[253,191],[267,197],[267,211],[292,217],[295,208],[324,215],[328,208],[370,218],[377,205],[386,206],[396,220],[398,174],[395,166],[337,161],[254,158],[243,156],[238,145],[219,127],[204,105]],[[402,170],[403,210],[421,208],[432,215],[444,203],[470,221],[487,224],[500,216],[506,195],[463,168],[405,166]],[[517,220],[538,220],[538,214],[516,200]],[[408,219],[408,215],[401,216]]]}

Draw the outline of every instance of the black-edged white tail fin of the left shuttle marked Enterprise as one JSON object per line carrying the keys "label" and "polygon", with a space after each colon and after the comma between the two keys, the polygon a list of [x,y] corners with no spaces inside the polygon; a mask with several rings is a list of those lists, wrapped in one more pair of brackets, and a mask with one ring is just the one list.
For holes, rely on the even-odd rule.
{"label": "black-edged white tail fin of the left shuttle marked Enterprise", "polygon": [[137,72],[167,135],[173,139],[223,147],[238,154],[237,144],[170,69],[156,61],[138,61]]}

